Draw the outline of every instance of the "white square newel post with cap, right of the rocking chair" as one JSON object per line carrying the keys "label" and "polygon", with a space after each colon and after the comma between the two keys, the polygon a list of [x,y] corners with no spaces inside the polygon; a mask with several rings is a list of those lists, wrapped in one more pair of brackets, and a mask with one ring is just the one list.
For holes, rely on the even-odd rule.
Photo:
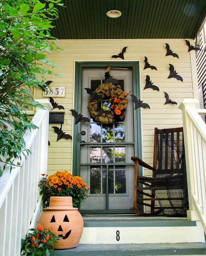
{"label": "white square newel post with cap, right of the rocking chair", "polygon": [[195,163],[193,163],[191,123],[188,117],[187,109],[188,108],[195,109],[198,103],[199,101],[196,99],[183,99],[179,105],[179,109],[182,110],[185,159],[186,159],[186,168],[187,168],[188,197],[189,197],[189,210],[187,211],[187,217],[191,221],[198,221],[199,217],[193,205],[193,199],[192,199],[192,195],[195,193],[194,168],[193,168]]}

